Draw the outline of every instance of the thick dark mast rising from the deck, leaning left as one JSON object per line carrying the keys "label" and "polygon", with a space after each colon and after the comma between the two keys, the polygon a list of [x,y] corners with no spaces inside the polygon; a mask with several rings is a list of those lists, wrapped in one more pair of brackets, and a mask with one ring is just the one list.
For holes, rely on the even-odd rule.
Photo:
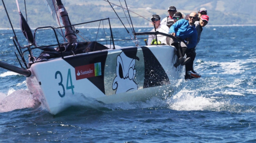
{"label": "thick dark mast rising from the deck, leaning left", "polygon": [[67,10],[65,9],[64,5],[62,4],[61,0],[56,0],[58,5],[58,11],[60,12],[60,16],[62,18],[62,23],[65,26],[65,38],[69,43],[77,42],[77,36],[75,35],[74,31],[72,30],[71,23],[69,21]]}

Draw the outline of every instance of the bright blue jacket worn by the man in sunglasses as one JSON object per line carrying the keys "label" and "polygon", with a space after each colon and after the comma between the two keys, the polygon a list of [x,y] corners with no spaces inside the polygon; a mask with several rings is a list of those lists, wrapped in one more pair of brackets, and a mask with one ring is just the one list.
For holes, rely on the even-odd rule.
{"label": "bright blue jacket worn by the man in sunglasses", "polygon": [[182,40],[187,40],[187,48],[192,49],[197,44],[197,31],[195,26],[189,25],[189,21],[185,19],[178,20],[170,27],[169,33],[175,33]]}

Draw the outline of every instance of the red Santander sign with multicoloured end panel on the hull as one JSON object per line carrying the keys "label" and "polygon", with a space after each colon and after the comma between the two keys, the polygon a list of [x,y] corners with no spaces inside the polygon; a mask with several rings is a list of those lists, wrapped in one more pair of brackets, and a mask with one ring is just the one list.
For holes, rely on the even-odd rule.
{"label": "red Santander sign with multicoloured end panel on the hull", "polygon": [[89,65],[75,67],[75,71],[77,71],[76,80],[101,76],[101,63],[92,63]]}

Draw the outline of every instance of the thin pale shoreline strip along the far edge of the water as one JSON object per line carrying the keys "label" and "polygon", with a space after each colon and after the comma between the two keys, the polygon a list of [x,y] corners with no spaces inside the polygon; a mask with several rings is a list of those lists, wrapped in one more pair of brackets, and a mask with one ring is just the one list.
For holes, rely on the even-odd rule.
{"label": "thin pale shoreline strip along the far edge of the water", "polygon": [[[233,25],[206,25],[206,27],[231,27],[231,26],[256,26],[256,24],[233,24]],[[99,27],[77,27],[80,29],[85,29],[85,28],[99,28]],[[109,27],[105,27],[109,28]],[[112,26],[111,28],[123,28],[123,26]],[[151,28],[151,26],[135,26],[135,28]],[[14,28],[15,30],[20,29],[20,28]],[[31,28],[31,29],[36,29],[36,28]],[[12,30],[11,28],[0,28],[0,30]]]}

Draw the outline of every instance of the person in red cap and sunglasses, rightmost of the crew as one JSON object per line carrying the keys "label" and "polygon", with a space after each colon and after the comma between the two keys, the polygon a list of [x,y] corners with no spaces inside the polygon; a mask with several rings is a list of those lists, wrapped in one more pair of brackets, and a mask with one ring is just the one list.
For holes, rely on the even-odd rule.
{"label": "person in red cap and sunglasses, rightmost of the crew", "polygon": [[[200,41],[200,36],[203,31],[203,27],[205,27],[208,24],[209,16],[202,15],[199,21],[196,21],[194,24],[196,26],[197,31],[197,43]],[[200,78],[201,75],[194,71],[193,64],[194,59],[196,58],[196,47],[189,49],[186,51],[187,57],[190,57],[190,62],[186,63],[186,74],[185,74],[185,80],[187,79],[194,79],[194,78]]]}

